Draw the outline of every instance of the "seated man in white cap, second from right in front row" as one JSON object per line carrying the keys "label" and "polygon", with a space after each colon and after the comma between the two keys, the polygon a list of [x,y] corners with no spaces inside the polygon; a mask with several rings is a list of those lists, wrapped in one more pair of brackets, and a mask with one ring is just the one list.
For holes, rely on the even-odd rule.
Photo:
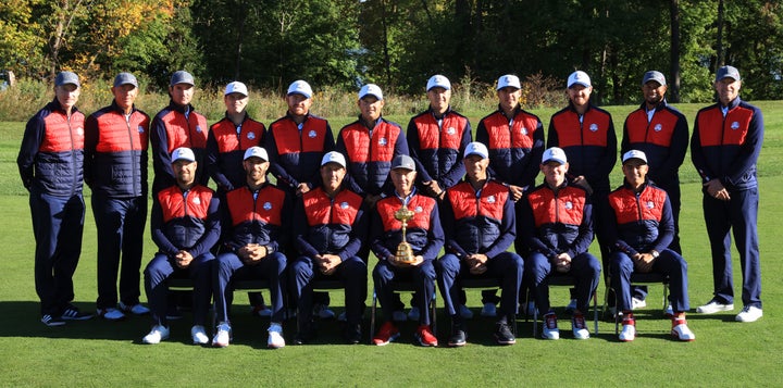
{"label": "seated man in white cap, second from right in front row", "polygon": [[583,314],[589,309],[601,271],[598,259],[587,252],[593,241],[593,204],[585,189],[569,185],[568,168],[562,149],[552,147],[544,152],[540,164],[544,184],[525,195],[518,228],[531,250],[525,274],[536,308],[545,312],[542,330],[545,339],[560,338],[557,316],[549,304],[549,276],[558,272],[576,279],[571,329],[574,338],[587,339],[589,330]]}

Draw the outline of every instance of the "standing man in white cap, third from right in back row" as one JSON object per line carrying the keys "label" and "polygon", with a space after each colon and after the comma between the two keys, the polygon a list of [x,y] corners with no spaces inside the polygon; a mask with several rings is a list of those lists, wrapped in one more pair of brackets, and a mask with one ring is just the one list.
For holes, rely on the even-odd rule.
{"label": "standing man in white cap, third from right in back row", "polygon": [[[571,73],[566,86],[569,104],[551,116],[547,148],[559,147],[566,151],[570,183],[583,187],[591,196],[594,231],[606,270],[611,241],[606,238],[600,214],[604,214],[610,190],[609,174],[617,162],[614,123],[609,112],[591,103],[593,86],[587,73]],[[572,295],[567,310],[575,306],[576,298]]]}

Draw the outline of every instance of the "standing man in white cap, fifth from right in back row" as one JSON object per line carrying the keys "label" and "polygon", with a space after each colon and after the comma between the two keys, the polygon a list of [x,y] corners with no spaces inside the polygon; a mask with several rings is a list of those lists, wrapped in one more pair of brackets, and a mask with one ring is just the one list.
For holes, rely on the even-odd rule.
{"label": "standing man in white cap, fifth from right in back row", "polygon": [[[417,187],[440,201],[446,189],[458,184],[464,175],[462,154],[473,136],[468,117],[451,109],[448,78],[439,74],[430,77],[426,96],[430,109],[411,118],[406,137],[419,172]],[[460,314],[470,320],[473,312],[464,305],[464,300],[465,297],[461,297]],[[411,308],[408,317],[419,321],[419,308]]]}

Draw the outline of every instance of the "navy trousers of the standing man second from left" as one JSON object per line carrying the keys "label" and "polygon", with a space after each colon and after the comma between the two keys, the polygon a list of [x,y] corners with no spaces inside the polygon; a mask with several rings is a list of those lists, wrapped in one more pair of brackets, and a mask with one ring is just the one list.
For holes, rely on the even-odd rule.
{"label": "navy trousers of the standing man second from left", "polygon": [[[98,229],[98,309],[117,303],[139,302],[144,229],[147,224],[147,197],[110,198],[92,195],[92,214]],[[122,265],[121,265],[122,258]]]}

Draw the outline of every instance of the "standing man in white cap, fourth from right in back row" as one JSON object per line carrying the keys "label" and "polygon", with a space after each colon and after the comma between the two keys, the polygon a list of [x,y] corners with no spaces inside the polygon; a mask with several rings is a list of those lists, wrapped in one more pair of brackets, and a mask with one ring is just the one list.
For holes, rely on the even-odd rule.
{"label": "standing man in white cap, fourth from right in back row", "polygon": [[[544,124],[536,115],[522,110],[519,102],[522,84],[518,76],[507,74],[498,78],[497,96],[498,109],[478,123],[476,141],[489,148],[494,178],[508,186],[511,200],[517,202],[524,191],[535,187],[538,161],[544,153]],[[527,247],[521,236],[518,237],[514,250],[525,254]],[[495,291],[482,291],[482,315],[495,316],[498,300]]]}

